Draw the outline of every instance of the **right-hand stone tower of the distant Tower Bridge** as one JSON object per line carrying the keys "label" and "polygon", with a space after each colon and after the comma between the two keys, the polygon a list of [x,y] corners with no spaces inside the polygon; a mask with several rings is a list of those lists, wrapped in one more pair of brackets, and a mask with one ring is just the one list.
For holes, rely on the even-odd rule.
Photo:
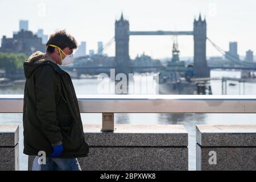
{"label": "right-hand stone tower of the distant Tower Bridge", "polygon": [[201,19],[194,20],[194,73],[195,77],[210,77],[210,69],[206,58],[207,23]]}

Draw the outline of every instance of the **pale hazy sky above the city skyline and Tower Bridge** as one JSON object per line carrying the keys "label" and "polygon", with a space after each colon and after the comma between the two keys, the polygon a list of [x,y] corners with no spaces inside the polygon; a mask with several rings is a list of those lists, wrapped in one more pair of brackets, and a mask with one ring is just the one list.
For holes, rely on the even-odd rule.
{"label": "pale hazy sky above the city skyline and Tower Bridge", "polygon": [[[114,22],[121,12],[130,22],[131,31],[191,31],[199,13],[207,19],[207,36],[221,48],[238,42],[238,53],[256,52],[255,0],[0,0],[0,36],[13,36],[19,20],[29,20],[29,29],[43,28],[46,34],[66,29],[77,41],[86,41],[89,49],[97,42],[107,43],[114,36]],[[179,36],[181,56],[193,55],[192,36]],[[114,43],[106,50],[114,56]],[[143,51],[154,58],[171,55],[171,36],[130,36],[130,56]],[[256,54],[256,53],[255,53]],[[220,55],[207,44],[207,55]]]}

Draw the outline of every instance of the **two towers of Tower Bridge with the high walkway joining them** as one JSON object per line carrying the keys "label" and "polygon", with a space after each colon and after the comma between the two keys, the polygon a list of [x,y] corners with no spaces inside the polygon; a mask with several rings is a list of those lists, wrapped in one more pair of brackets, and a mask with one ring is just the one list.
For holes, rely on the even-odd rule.
{"label": "two towers of Tower Bridge with the high walkway joining them", "polygon": [[206,59],[207,23],[205,19],[193,22],[193,31],[130,31],[129,21],[123,18],[115,20],[115,63],[116,70],[130,73],[129,37],[131,35],[192,35],[194,40],[195,77],[209,77],[210,69]]}

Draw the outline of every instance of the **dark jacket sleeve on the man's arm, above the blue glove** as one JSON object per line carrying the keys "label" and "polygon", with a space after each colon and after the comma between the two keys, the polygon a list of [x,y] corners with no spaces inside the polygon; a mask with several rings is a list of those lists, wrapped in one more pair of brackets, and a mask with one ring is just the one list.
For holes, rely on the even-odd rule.
{"label": "dark jacket sleeve on the man's arm, above the blue glove", "polygon": [[57,143],[62,140],[62,135],[56,119],[56,76],[51,65],[41,67],[38,74],[35,74],[36,115],[49,142]]}

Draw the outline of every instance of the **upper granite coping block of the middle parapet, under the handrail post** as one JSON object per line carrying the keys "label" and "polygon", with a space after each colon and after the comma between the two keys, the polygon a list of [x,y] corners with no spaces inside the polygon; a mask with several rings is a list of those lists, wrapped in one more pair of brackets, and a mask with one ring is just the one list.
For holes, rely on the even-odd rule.
{"label": "upper granite coping block of the middle parapet, under the handrail post", "polygon": [[183,125],[115,125],[113,132],[101,125],[84,125],[89,146],[188,146]]}

